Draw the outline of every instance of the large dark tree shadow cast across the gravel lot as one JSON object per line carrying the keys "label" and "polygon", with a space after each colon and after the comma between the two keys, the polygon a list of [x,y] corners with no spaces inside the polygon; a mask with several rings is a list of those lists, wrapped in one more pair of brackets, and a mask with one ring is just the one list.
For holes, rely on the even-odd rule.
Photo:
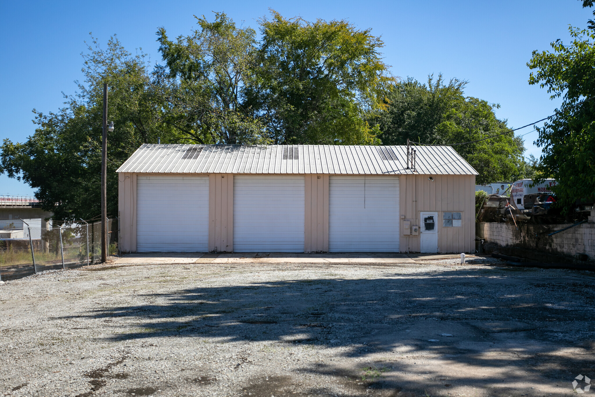
{"label": "large dark tree shadow cast across the gravel lot", "polygon": [[[388,351],[410,356],[432,352],[448,362],[487,370],[481,379],[468,372],[441,378],[441,368],[426,371],[424,377],[432,380],[424,382],[442,389],[462,384],[488,387],[502,382],[502,376],[525,382],[529,372],[548,382],[569,383],[595,368],[593,273],[486,268],[393,276],[196,287],[143,295],[146,304],[95,310],[87,316],[109,318],[119,332],[127,326],[119,327],[118,317],[140,323],[136,331],[114,333],[111,340],[173,336],[192,343],[208,336],[281,346],[343,346],[347,357],[362,358]],[[362,369],[364,379],[359,382],[353,373],[342,375],[336,368],[303,371],[333,375],[337,382],[349,381],[354,387],[387,385],[391,390],[400,386],[386,383],[385,376],[422,373],[400,361],[376,364],[368,377]],[[293,387],[286,384],[290,380],[270,381],[265,384]]]}

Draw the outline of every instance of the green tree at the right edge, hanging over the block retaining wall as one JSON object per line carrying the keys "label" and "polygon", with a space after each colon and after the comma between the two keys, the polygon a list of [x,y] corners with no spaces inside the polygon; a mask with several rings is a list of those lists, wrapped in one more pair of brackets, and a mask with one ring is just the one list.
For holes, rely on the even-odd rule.
{"label": "green tree at the right edge, hanging over the block retaining wall", "polygon": [[[585,1],[590,7],[592,2]],[[542,148],[538,170],[553,177],[565,203],[595,196],[595,33],[569,28],[569,45],[551,43],[553,51],[533,51],[527,63],[529,83],[547,87],[562,105],[543,127],[536,144]]]}

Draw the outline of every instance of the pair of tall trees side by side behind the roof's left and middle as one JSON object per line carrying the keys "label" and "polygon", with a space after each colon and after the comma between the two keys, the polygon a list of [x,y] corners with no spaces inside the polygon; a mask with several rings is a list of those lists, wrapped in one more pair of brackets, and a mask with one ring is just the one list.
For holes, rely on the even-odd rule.
{"label": "pair of tall trees side by side behind the roof's left and middle", "polygon": [[377,142],[366,118],[393,80],[382,40],[345,20],[271,15],[259,21],[259,42],[224,13],[212,23],[197,18],[199,29],[175,42],[159,29],[167,78],[179,93],[173,117],[199,143]]}

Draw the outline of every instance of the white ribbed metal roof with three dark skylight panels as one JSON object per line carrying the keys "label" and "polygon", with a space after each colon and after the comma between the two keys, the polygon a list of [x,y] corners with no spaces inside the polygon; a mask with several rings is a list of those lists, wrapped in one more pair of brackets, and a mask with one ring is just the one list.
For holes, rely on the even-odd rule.
{"label": "white ribbed metal roof with three dark skylight panels", "polygon": [[[415,173],[478,175],[450,146],[415,146]],[[413,174],[407,146],[158,145],[145,143],[117,172]]]}

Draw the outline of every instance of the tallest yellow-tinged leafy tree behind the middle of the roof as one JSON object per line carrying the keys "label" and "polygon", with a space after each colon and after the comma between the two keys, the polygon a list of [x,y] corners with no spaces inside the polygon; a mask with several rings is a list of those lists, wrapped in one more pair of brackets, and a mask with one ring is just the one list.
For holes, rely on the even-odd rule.
{"label": "tallest yellow-tinged leafy tree behind the middle of the roof", "polygon": [[246,96],[274,142],[378,143],[377,127],[366,119],[392,81],[382,40],[345,20],[271,14],[259,21],[262,39]]}

